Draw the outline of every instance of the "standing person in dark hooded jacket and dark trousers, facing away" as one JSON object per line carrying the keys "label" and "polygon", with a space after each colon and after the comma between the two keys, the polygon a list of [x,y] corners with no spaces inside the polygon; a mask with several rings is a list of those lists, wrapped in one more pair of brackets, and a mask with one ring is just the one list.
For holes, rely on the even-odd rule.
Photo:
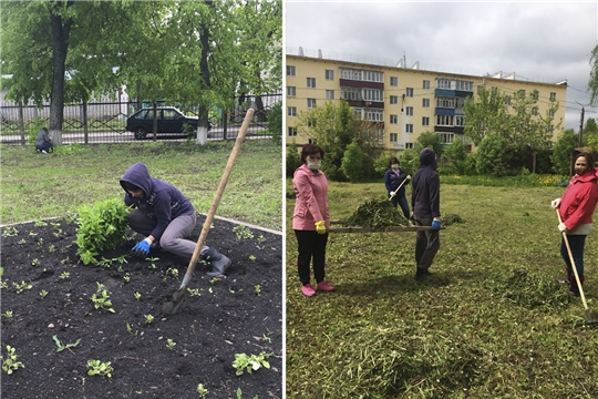
{"label": "standing person in dark hooded jacket and dark trousers, facing away", "polygon": [[436,155],[432,149],[423,149],[420,154],[420,168],[413,175],[411,206],[412,221],[416,226],[432,226],[432,229],[417,232],[415,238],[416,280],[430,280],[430,266],[440,248],[440,177],[436,172]]}

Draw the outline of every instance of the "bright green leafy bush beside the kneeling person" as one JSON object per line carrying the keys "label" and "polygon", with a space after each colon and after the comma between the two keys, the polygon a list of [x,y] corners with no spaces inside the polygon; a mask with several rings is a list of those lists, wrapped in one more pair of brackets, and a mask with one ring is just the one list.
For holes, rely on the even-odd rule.
{"label": "bright green leafy bush beside the kneeling person", "polygon": [[95,256],[105,249],[114,249],[123,243],[128,208],[122,200],[105,200],[79,209],[75,244],[76,254],[87,265],[95,264]]}

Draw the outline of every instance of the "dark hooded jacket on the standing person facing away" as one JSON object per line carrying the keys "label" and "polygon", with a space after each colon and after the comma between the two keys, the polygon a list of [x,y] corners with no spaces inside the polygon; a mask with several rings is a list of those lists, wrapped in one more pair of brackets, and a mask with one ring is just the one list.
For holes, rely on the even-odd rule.
{"label": "dark hooded jacket on the standing person facing away", "polygon": [[440,177],[436,155],[432,149],[423,149],[420,168],[413,175],[411,206],[417,217],[440,217]]}

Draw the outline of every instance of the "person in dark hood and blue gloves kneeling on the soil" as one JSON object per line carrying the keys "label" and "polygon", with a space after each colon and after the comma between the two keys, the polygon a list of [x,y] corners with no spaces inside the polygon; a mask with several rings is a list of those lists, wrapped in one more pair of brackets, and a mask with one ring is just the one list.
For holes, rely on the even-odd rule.
{"label": "person in dark hood and blue gloves kneeling on the soil", "polygon": [[[189,200],[172,184],[152,177],[142,163],[125,172],[121,186],[125,205],[136,207],[127,215],[128,226],[146,236],[131,250],[145,257],[159,243],[162,249],[190,259],[196,243],[186,238],[195,228],[197,215]],[[199,255],[212,266],[207,276],[224,276],[230,266],[230,259],[213,247],[203,246]]]}

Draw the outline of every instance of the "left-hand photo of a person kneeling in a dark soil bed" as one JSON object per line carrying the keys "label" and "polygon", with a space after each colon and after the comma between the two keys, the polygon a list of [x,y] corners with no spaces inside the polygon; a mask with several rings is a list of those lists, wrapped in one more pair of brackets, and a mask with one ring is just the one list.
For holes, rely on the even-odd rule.
{"label": "left-hand photo of a person kneeling in a dark soil bed", "polygon": [[0,397],[283,398],[282,1],[0,24]]}

